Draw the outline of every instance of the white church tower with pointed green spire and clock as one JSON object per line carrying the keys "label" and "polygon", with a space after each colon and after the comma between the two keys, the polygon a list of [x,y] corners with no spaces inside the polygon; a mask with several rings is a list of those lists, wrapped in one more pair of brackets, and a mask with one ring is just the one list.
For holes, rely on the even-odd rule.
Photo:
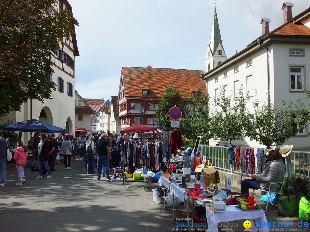
{"label": "white church tower with pointed green spire and clock", "polygon": [[206,72],[210,71],[212,68],[216,67],[226,59],[227,56],[225,54],[222,44],[221,32],[219,31],[219,21],[217,19],[216,8],[214,3],[212,30],[205,59],[205,69],[206,69],[205,71]]}

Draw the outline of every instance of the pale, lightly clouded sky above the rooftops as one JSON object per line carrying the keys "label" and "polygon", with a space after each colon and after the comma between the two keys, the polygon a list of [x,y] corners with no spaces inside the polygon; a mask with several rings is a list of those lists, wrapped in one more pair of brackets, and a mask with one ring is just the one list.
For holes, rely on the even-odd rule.
{"label": "pale, lightly clouded sky above the rooftops", "polygon": [[[217,0],[227,57],[283,23],[283,0]],[[78,20],[80,56],[75,58],[75,89],[83,98],[118,95],[122,67],[204,70],[210,40],[212,0],[69,0]],[[294,0],[293,16],[310,6]]]}

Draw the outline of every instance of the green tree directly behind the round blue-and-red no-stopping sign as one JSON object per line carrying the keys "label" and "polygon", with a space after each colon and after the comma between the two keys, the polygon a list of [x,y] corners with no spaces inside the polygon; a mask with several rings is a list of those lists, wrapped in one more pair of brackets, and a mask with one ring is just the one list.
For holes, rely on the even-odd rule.
{"label": "green tree directly behind the round blue-and-red no-stopping sign", "polygon": [[[155,119],[158,122],[159,127],[163,127],[166,130],[171,128],[170,121],[172,120],[169,116],[169,110],[177,106],[180,108],[182,112],[184,112],[185,106],[182,100],[181,93],[176,91],[171,85],[165,86],[165,92],[162,97],[159,98],[158,108],[155,109]],[[182,117],[184,117],[182,115]],[[182,123],[180,123],[181,127],[184,127]]]}

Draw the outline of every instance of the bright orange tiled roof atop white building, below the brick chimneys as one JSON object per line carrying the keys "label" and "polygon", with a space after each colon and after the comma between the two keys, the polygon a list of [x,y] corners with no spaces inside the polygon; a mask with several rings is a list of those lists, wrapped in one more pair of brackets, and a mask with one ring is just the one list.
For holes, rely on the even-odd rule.
{"label": "bright orange tiled roof atop white building, below the brick chimneys", "polygon": [[310,36],[310,30],[291,21],[285,22],[270,32],[272,35]]}

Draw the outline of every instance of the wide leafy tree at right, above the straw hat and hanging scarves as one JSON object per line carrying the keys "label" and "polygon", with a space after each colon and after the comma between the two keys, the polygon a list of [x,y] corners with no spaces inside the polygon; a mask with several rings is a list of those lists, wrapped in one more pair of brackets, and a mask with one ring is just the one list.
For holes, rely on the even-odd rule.
{"label": "wide leafy tree at right, above the straw hat and hanging scarves", "polygon": [[290,102],[286,105],[282,101],[281,107],[274,103],[254,101],[254,118],[248,124],[246,135],[251,140],[271,148],[279,146],[303,127],[307,127],[309,112],[304,103],[298,100],[296,104]]}

